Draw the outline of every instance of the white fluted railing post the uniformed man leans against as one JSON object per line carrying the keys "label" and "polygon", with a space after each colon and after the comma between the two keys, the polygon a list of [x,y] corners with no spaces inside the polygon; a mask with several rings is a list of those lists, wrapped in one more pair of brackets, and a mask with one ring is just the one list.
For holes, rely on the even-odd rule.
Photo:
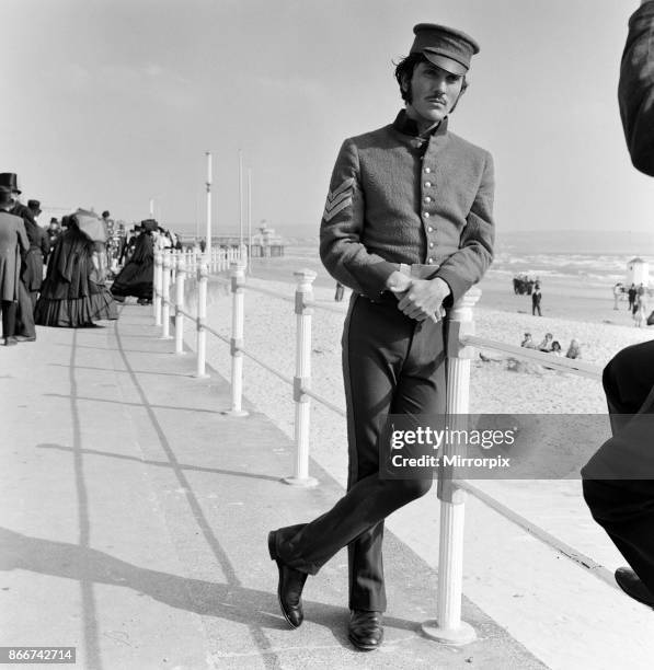
{"label": "white fluted railing post the uniformed man leans against", "polygon": [[[474,334],[473,307],[481,297],[478,288],[470,289],[449,311],[444,324],[447,354],[447,425],[457,428],[457,415],[470,408],[470,359],[472,347],[461,347],[459,339]],[[450,419],[450,417],[452,417]],[[452,455],[446,444],[441,455]],[[466,645],[477,639],[474,628],[461,621],[463,584],[463,523],[466,492],[457,488],[451,471],[438,471],[440,498],[440,533],[438,545],[438,596],[436,621],[422,625],[428,637],[447,645]]]}

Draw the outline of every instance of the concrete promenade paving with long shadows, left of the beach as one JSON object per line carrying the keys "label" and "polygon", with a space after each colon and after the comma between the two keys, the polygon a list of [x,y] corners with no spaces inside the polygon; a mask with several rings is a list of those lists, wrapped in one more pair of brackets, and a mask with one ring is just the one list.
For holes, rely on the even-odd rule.
{"label": "concrete promenade paving with long shadows, left of the beach", "polygon": [[315,463],[319,487],[280,484],[288,438],[255,407],[226,415],[228,383],[191,377],[159,331],[127,304],[105,327],[0,348],[0,646],[73,646],[88,670],[544,667],[467,600],[478,642],[424,638],[436,574],[391,532],[381,650],[347,640],[345,552],[289,629],[267,531],[342,488]]}

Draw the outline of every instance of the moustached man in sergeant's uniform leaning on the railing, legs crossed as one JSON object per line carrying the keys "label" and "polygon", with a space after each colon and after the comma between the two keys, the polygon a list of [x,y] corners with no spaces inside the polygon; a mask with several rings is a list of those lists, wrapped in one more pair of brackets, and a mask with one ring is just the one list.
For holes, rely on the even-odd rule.
{"label": "moustached man in sergeant's uniform leaning on the railing, legs crossed", "polygon": [[392,414],[445,412],[444,311],[493,258],[492,157],[448,128],[479,46],[431,23],[413,32],[395,68],[406,107],[392,124],[345,140],[320,230],[324,266],[353,291],[342,338],[347,493],[313,521],[268,534],[292,627],[303,620],[307,576],[348,547],[348,637],[362,650],[383,638],[383,520],[432,485],[380,474],[381,431]]}

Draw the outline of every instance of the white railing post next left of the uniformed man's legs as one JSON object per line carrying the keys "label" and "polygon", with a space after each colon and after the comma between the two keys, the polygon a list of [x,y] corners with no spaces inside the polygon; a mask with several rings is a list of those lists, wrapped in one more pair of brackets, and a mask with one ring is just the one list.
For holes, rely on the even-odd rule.
{"label": "white railing post next left of the uniformed man's legs", "polygon": [[292,380],[292,398],[295,401],[295,473],[284,477],[283,482],[291,486],[315,486],[318,480],[309,476],[309,420],[311,417],[310,397],[303,389],[311,388],[311,315],[313,309],[307,302],[313,300],[313,270],[294,273],[298,286],[295,293],[296,331],[296,372]]}

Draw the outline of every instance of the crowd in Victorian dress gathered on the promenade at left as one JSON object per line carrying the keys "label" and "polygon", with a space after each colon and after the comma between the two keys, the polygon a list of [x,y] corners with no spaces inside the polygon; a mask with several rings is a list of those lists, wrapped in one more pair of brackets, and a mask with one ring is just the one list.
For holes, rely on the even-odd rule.
{"label": "crowd in Victorian dress gathered on the promenade at left", "polygon": [[[181,249],[146,219],[127,233],[108,211],[78,209],[47,228],[36,199],[21,201],[15,173],[0,173],[0,303],[5,346],[36,340],[35,325],[94,327],[118,317],[116,302],[152,301],[156,249]],[[112,282],[113,280],[113,282]],[[107,285],[111,284],[111,288]]]}

